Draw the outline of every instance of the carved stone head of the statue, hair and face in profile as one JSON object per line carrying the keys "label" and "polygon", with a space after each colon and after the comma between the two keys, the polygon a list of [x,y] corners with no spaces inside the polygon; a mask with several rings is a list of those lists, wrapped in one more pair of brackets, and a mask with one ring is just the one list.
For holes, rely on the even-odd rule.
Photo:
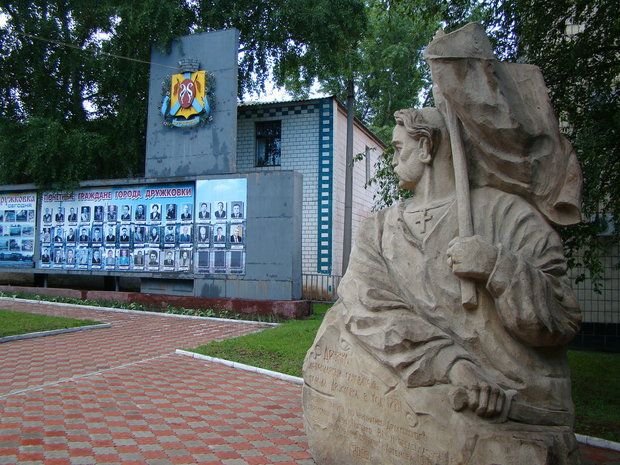
{"label": "carved stone head of the statue, hair and face in profile", "polygon": [[448,140],[446,125],[439,110],[432,107],[399,110],[394,118],[394,172],[400,187],[413,190],[433,159],[444,152],[440,149]]}

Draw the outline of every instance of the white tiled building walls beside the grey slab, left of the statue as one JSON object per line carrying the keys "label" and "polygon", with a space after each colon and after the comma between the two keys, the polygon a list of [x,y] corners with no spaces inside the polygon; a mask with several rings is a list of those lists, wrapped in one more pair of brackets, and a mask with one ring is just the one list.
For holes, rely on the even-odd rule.
{"label": "white tiled building walls beside the grey slab, left of the statue", "polygon": [[[318,163],[319,163],[319,105],[321,100],[306,104],[240,107],[237,120],[237,169],[239,172],[260,170],[294,170],[303,175],[303,232],[302,272],[317,272],[318,241]],[[334,163],[332,189],[332,267],[331,274],[342,274],[342,242],[344,235],[344,182],[346,149],[346,114],[332,100],[336,115],[334,131]],[[284,111],[283,111],[284,110]],[[295,113],[297,111],[297,113]],[[282,158],[279,167],[255,167],[255,133],[257,121],[282,121]],[[358,126],[355,127],[353,154],[363,153],[371,147],[370,167],[381,153],[381,147]],[[371,173],[372,176],[372,173]],[[373,190],[365,189],[366,162],[356,162],[353,170],[353,240],[362,219],[373,206]]]}

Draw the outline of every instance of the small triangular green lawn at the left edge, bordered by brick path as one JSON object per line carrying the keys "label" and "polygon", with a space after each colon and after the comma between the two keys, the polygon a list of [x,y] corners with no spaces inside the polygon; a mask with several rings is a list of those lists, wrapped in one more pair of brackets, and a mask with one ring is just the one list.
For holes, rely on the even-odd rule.
{"label": "small triangular green lawn at the left edge, bordered by brick path", "polygon": [[75,320],[59,316],[37,315],[34,313],[0,310],[0,337],[16,334],[50,331],[52,329],[74,328],[98,324],[98,321]]}

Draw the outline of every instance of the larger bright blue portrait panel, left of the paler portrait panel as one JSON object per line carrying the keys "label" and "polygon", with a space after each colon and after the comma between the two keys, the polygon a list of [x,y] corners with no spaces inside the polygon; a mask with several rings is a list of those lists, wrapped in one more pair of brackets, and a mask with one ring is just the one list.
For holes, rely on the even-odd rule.
{"label": "larger bright blue portrait panel, left of the paler portrait panel", "polygon": [[[43,249],[47,248],[45,255],[49,259],[45,263],[39,259],[38,265],[52,267],[53,250],[62,249],[61,263],[65,268],[161,271],[167,259],[166,271],[193,272],[194,183],[101,187],[48,192],[43,196],[38,255],[42,257]],[[34,217],[34,205],[36,202],[32,209],[23,205],[8,209],[8,217],[15,225],[26,227],[28,223],[23,220],[29,218],[30,210],[33,212],[30,216]],[[3,217],[5,213],[0,211]],[[4,224],[0,227],[10,235],[10,228]],[[25,229],[27,240],[23,241],[21,230],[14,229],[12,233],[19,235],[19,240],[13,241],[13,248],[28,252],[34,231],[34,225]],[[7,250],[9,247],[7,243]],[[69,248],[73,252],[68,252]],[[189,257],[180,252],[182,249],[188,251]],[[172,260],[164,253],[168,250],[172,251]],[[157,264],[149,265],[152,251],[156,252]],[[60,257],[61,253],[57,255]]]}

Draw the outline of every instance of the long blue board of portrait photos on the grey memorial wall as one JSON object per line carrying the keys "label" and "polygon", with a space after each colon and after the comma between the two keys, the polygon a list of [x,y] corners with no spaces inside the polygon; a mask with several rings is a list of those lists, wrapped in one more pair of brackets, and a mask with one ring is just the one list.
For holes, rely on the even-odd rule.
{"label": "long blue board of portrait photos on the grey memorial wall", "polygon": [[246,205],[243,178],[44,192],[38,267],[243,274]]}

